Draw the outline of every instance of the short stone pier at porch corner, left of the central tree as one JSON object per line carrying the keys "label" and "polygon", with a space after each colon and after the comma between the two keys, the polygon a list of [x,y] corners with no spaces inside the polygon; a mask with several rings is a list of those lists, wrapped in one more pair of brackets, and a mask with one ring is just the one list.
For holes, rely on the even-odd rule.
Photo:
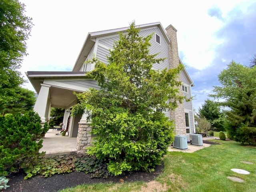
{"label": "short stone pier at porch corner, left of the central tree", "polygon": [[78,153],[85,153],[86,149],[90,146],[92,141],[91,130],[90,122],[78,123],[78,134],[76,138],[76,149]]}

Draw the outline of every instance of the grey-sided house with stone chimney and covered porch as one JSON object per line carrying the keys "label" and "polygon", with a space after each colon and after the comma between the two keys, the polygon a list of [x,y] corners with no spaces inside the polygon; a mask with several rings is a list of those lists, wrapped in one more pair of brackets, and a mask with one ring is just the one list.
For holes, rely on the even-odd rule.
{"label": "grey-sided house with stone chimney and covered porch", "polygon": [[[154,64],[154,69],[173,68],[179,63],[182,64],[178,56],[177,30],[172,25],[165,30],[160,22],[136,27],[140,27],[142,36],[154,34],[151,39],[150,54],[159,52],[157,57],[167,58],[161,64]],[[94,69],[94,65],[84,62],[95,55],[101,62],[107,63],[106,55],[109,54],[114,42],[118,40],[118,33],[125,33],[128,28],[88,33],[72,72],[28,71],[26,73],[38,94],[34,110],[40,115],[42,123],[49,120],[51,107],[65,108],[64,128],[68,130],[69,137],[77,137],[78,151],[83,151],[90,145],[91,135],[86,114],[70,116],[72,106],[77,103],[77,98],[73,93],[84,92],[88,88],[99,89],[97,82],[85,75],[86,72]],[[190,97],[191,87],[194,84],[185,68],[180,73],[180,80],[182,81],[180,94]],[[167,111],[165,114],[174,120],[176,134],[187,135],[189,139],[189,134],[195,132],[192,101],[178,104],[175,111]]]}

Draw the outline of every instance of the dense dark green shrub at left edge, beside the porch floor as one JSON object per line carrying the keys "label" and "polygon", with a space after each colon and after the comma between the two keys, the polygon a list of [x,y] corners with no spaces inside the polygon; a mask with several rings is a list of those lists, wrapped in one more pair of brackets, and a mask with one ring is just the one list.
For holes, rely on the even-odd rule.
{"label": "dense dark green shrub at left edge, beside the porch floor", "polygon": [[33,111],[0,117],[0,175],[16,172],[40,156],[41,138],[49,129],[47,123],[44,128],[40,123]]}

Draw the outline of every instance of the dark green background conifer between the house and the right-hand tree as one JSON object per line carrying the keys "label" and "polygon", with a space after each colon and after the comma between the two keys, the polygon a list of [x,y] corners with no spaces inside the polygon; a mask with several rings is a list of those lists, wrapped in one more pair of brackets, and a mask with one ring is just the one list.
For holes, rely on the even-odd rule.
{"label": "dark green background conifer between the house and the right-hand tree", "polygon": [[200,118],[206,118],[211,127],[216,128],[216,131],[223,131],[221,112],[216,102],[206,99],[202,104],[202,108],[199,107],[198,113]]}

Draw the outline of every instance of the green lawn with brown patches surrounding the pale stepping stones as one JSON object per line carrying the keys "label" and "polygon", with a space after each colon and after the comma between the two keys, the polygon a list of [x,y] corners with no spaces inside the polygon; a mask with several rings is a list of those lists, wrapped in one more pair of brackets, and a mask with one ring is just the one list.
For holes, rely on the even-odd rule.
{"label": "green lawn with brown patches surrounding the pale stepping stones", "polygon": [[[215,140],[214,140],[215,141]],[[252,192],[256,189],[256,148],[241,146],[234,141],[218,141],[194,153],[168,152],[164,157],[163,173],[156,180],[143,183],[85,184],[61,192]],[[249,161],[254,164],[244,164]],[[242,175],[230,169],[250,172]],[[243,183],[233,182],[228,176],[239,177]]]}

